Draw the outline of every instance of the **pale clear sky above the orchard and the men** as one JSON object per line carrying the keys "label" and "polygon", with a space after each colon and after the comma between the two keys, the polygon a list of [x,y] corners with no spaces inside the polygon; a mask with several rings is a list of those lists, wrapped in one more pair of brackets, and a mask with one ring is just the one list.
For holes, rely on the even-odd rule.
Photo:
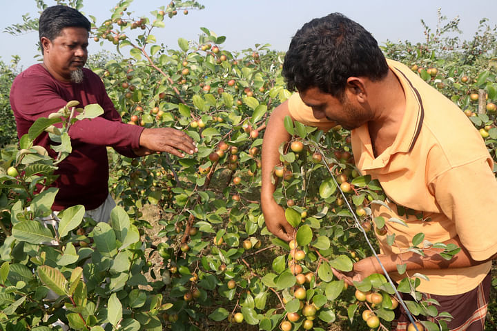
{"label": "pale clear sky above the orchard and the men", "polygon": [[[2,21],[0,24],[0,59],[8,62],[11,56],[21,56],[21,65],[26,68],[35,63],[33,56],[37,54],[37,33],[13,37],[3,32],[12,23],[21,23],[21,16],[30,13],[31,17],[39,16],[35,0],[0,0]],[[166,28],[157,29],[157,41],[168,48],[177,48],[177,39],[183,37],[197,40],[200,27],[206,27],[218,36],[226,36],[222,48],[230,51],[251,48],[255,43],[270,43],[275,50],[286,50],[292,35],[302,24],[330,12],[342,12],[358,21],[378,40],[385,41],[422,41],[421,19],[436,29],[437,9],[448,19],[460,17],[462,38],[470,39],[476,32],[478,22],[483,17],[490,19],[491,24],[497,22],[496,0],[198,0],[205,9],[191,10],[187,16],[181,12],[173,19],[165,19]],[[135,0],[128,10],[138,16],[148,14],[168,3],[168,0]],[[49,6],[53,0],[46,0]],[[110,17],[110,9],[117,1],[84,0],[82,11],[86,15],[97,17],[101,22]],[[115,51],[110,43],[107,49]],[[90,52],[100,49],[95,42],[90,42]]]}

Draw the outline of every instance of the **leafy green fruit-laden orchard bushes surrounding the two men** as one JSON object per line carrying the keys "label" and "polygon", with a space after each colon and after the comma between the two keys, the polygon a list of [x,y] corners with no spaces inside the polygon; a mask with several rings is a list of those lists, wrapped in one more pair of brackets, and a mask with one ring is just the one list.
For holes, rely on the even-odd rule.
{"label": "leafy green fruit-laden orchard bushes surrounding the two men", "polygon": [[[18,148],[4,148],[0,328],[48,330],[57,320],[74,330],[388,328],[399,301],[387,279],[374,274],[347,287],[332,272],[350,271],[372,254],[364,234],[373,239],[390,222],[402,223],[371,218],[371,206],[384,205],[386,197],[378,181],[354,168],[349,132],[335,127],[324,134],[286,119],[292,139],[280,147],[275,199],[295,235],[290,243],[276,239],[260,210],[260,147],[271,110],[290,96],[280,76],[284,54],[269,45],[224,50],[225,37],[207,28],[197,41],[180,38],[176,48],[166,48],[155,31],[202,5],[175,1],[135,17],[131,2],[119,2],[101,23],[92,18],[92,39],[115,44],[121,55],[94,57],[89,65],[125,123],[184,130],[199,151],[184,159],[128,159],[109,149],[118,203],[110,223],[95,223],[77,205],[59,214],[55,229],[39,219],[50,214],[55,190],[47,187],[70,152],[68,128],[97,116],[99,108],[79,112],[71,101],[37,121]],[[81,8],[82,1],[70,5]],[[473,41],[444,39],[457,23],[435,34],[427,28],[426,43],[387,43],[384,52],[457,103],[495,159],[495,31],[483,21]],[[52,127],[57,121],[64,121],[61,130]],[[32,146],[43,130],[58,143],[55,160]],[[37,192],[37,184],[46,188]],[[147,205],[160,210],[153,228],[159,241],[144,232],[152,226],[143,213]],[[422,233],[410,250],[423,254],[433,247],[445,259],[459,250],[427,243]],[[413,296],[406,301],[411,313],[433,318],[418,329],[444,330],[450,316],[416,292],[425,276],[408,274],[402,265],[398,271],[405,279],[396,289]]]}

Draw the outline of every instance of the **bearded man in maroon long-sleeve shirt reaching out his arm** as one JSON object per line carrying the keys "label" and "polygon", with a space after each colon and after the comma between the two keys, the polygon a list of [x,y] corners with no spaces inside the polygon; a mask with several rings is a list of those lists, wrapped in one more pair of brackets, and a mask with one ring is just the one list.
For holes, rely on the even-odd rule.
{"label": "bearded man in maroon long-sleeve shirt reaching out his arm", "polygon": [[[16,77],[10,90],[10,103],[19,138],[36,119],[57,112],[68,101],[77,100],[83,107],[98,103],[104,108],[100,117],[77,121],[71,126],[72,153],[59,163],[56,172],[59,178],[55,183],[59,192],[52,209],[58,211],[78,204],[84,205],[87,211],[104,209],[102,219],[96,221],[107,221],[115,204],[108,194],[106,146],[126,157],[153,152],[184,157],[181,151],[193,154],[197,149],[193,139],[179,130],[145,129],[121,122],[100,77],[83,68],[88,57],[89,31],[90,21],[75,9],[52,6],[44,10],[39,19],[43,63],[31,66]],[[55,157],[46,132],[35,143]]]}

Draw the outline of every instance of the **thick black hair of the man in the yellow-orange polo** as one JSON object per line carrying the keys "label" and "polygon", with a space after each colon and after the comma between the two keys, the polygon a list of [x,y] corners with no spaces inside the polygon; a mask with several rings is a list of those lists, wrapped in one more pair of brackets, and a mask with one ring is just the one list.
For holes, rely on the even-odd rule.
{"label": "thick black hair of the man in the yellow-orange polo", "polygon": [[289,90],[319,88],[341,98],[349,77],[387,76],[378,42],[360,24],[335,12],[305,23],[292,38],[282,75]]}

